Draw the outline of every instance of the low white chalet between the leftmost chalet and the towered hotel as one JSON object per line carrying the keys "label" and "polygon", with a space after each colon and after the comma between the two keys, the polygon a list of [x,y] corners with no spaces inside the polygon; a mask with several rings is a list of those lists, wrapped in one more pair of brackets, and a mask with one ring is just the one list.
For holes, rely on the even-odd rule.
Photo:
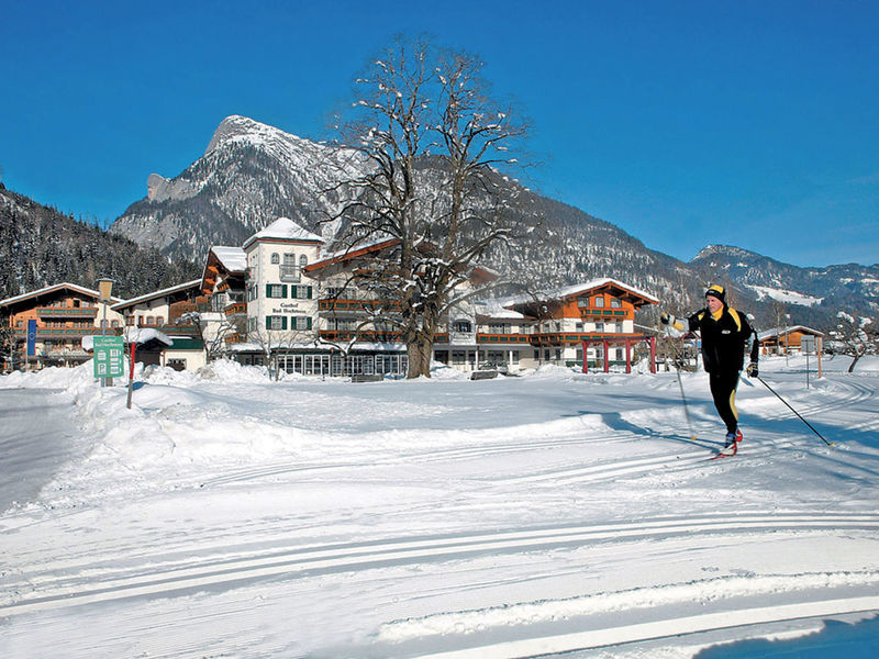
{"label": "low white chalet between the leftmost chalet and the towered hotel", "polygon": [[122,315],[126,335],[136,335],[134,330],[155,330],[171,340],[162,350],[152,351],[156,355],[151,364],[196,370],[207,362],[204,342],[197,319],[188,314],[208,302],[207,297],[199,298],[200,292],[201,279],[194,279],[118,302],[111,309]]}

